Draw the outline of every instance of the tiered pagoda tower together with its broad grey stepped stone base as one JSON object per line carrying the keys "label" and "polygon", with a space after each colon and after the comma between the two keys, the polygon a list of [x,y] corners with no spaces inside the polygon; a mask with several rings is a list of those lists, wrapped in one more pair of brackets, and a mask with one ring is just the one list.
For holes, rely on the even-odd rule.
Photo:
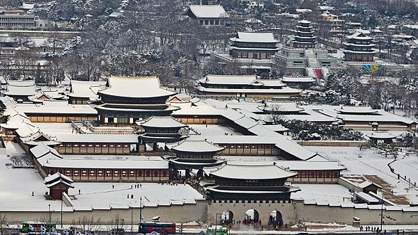
{"label": "tiered pagoda tower together with its broad grey stepped stone base", "polygon": [[274,64],[281,75],[301,74],[315,79],[323,78],[329,70],[343,70],[337,58],[331,57],[326,49],[318,48],[312,23],[298,22],[295,36],[290,45],[284,45],[274,55]]}

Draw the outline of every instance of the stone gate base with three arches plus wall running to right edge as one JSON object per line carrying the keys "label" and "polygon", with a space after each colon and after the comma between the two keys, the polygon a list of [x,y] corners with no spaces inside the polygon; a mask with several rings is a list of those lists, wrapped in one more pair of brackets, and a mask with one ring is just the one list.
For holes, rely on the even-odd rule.
{"label": "stone gate base with three arches plus wall running to right edge", "polygon": [[[360,218],[362,225],[380,224],[380,207],[376,209],[355,209],[341,206],[328,206],[316,204],[304,204],[303,201],[292,203],[210,203],[208,204],[208,222],[215,223],[221,218],[224,211],[232,211],[235,220],[243,220],[245,212],[255,209],[263,225],[268,223],[268,218],[273,211],[280,211],[284,224],[294,224],[298,220],[305,222],[336,222],[341,224],[353,224],[353,217]],[[384,210],[383,214],[395,220],[385,219],[385,225],[418,225],[418,211]]]}

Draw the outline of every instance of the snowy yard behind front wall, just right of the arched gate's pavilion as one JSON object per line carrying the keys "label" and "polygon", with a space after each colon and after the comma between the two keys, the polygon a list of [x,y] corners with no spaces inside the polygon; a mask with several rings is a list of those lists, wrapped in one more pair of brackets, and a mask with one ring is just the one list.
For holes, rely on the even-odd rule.
{"label": "snowy yard behind front wall, just right of the arched gate's pavilion", "polygon": [[316,200],[323,202],[350,202],[352,197],[348,188],[339,184],[292,184],[302,191],[292,193],[293,199]]}

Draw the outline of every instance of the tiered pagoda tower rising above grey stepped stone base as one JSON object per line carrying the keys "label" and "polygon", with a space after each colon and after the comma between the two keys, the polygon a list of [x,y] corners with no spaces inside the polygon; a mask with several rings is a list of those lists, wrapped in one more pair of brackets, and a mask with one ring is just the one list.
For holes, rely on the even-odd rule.
{"label": "tiered pagoda tower rising above grey stepped stone base", "polygon": [[297,48],[314,48],[318,43],[316,36],[314,36],[314,28],[312,27],[312,22],[307,20],[301,20],[298,22],[299,25],[296,26],[296,34],[294,36],[293,47]]}

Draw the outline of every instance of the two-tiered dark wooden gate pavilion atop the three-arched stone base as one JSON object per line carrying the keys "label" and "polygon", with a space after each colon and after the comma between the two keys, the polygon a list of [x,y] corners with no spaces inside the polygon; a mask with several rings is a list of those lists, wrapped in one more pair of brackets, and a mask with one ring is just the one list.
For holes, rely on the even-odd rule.
{"label": "two-tiered dark wooden gate pavilion atop the three-arched stone base", "polygon": [[215,180],[206,186],[207,199],[233,200],[238,203],[249,200],[279,200],[291,202],[291,193],[300,191],[285,184],[296,172],[279,167],[276,163],[265,165],[225,163],[203,171]]}

